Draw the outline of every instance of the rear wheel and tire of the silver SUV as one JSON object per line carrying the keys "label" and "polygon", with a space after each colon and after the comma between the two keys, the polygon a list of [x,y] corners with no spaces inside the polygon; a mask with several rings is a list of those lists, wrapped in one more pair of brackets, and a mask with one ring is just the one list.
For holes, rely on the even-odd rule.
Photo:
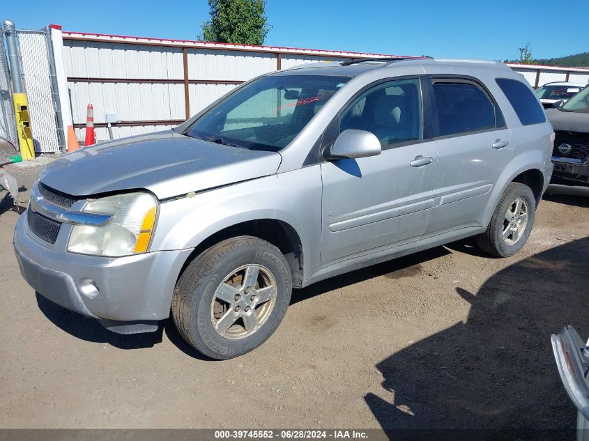
{"label": "rear wheel and tire of the silver SUV", "polygon": [[[512,224],[511,215],[517,210],[517,202],[523,201],[522,210],[526,211],[526,224],[523,226],[523,216],[519,215],[519,224]],[[523,211],[522,211],[523,212]],[[482,251],[497,257],[513,256],[526,245],[536,214],[536,200],[530,187],[521,183],[510,183],[499,198],[487,231],[477,235],[477,245]],[[517,216],[515,216],[517,217]],[[512,217],[513,219],[513,217]],[[517,223],[517,222],[516,222]],[[507,229],[509,227],[509,229]],[[507,238],[504,234],[507,233]],[[515,240],[514,240],[515,239]]]}

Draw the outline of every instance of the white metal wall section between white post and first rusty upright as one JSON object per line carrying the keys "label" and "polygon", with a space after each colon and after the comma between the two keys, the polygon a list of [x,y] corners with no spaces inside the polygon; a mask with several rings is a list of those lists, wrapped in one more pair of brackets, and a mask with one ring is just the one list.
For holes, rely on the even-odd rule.
{"label": "white metal wall section between white post and first rusty upright", "polygon": [[[64,42],[63,49],[74,123],[86,121],[89,103],[94,107],[95,124],[106,123],[106,114],[116,114],[120,121],[183,118],[183,85],[147,81],[181,80],[182,49],[77,41]],[[113,135],[120,138],[165,128],[167,126],[113,127]],[[78,138],[82,139],[83,129],[76,130]],[[96,132],[99,140],[108,139],[104,127],[97,128]]]}

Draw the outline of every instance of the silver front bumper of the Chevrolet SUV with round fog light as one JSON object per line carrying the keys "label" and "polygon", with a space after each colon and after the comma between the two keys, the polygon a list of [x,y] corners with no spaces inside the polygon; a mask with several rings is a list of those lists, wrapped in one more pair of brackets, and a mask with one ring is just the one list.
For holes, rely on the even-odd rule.
{"label": "silver front bumper of the Chevrolet SUV with round fog light", "polygon": [[167,318],[178,274],[192,252],[109,258],[68,253],[58,249],[63,242],[47,244],[29,230],[26,215],[20,216],[14,247],[22,276],[43,297],[105,325]]}

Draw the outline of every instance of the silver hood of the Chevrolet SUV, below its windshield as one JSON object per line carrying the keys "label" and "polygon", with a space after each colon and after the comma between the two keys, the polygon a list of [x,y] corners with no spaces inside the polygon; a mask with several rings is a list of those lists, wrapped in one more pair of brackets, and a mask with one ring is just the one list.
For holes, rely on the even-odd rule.
{"label": "silver hood of the Chevrolet SUV, below its windshield", "polygon": [[193,139],[173,130],[109,141],[43,169],[45,185],[72,196],[148,189],[159,199],[275,173],[279,153]]}

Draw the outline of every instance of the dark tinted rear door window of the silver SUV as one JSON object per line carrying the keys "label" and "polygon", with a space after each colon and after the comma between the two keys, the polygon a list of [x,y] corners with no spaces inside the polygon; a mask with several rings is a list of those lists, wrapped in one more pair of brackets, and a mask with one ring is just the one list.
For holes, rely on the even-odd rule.
{"label": "dark tinted rear door window of the silver SUV", "polygon": [[495,104],[476,84],[434,79],[434,98],[441,137],[496,127]]}

